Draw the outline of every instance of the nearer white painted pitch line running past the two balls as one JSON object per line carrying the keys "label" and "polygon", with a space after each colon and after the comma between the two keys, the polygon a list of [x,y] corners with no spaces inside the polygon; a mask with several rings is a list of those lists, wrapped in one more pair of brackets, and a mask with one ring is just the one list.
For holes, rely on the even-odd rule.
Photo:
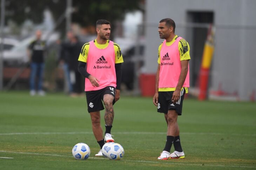
{"label": "nearer white painted pitch line running past the two balls", "polygon": [[[0,150],[0,152],[6,153],[15,153],[15,154],[30,154],[30,155],[43,155],[43,156],[60,156],[60,157],[73,157],[68,155],[57,155],[57,154],[40,154],[40,153],[27,153],[27,152],[13,152],[13,151],[5,151]],[[97,159],[97,160],[107,160],[106,158],[101,157],[89,157],[89,159]],[[133,160],[123,160],[126,162],[140,162],[140,163],[159,163],[159,164],[176,164],[176,165],[193,165],[193,166],[202,166],[202,164],[189,164],[189,163],[174,163],[174,162],[161,162],[161,161],[133,161]],[[165,160],[171,161],[171,160]],[[210,164],[203,164],[204,166],[211,166],[211,167],[235,167],[235,168],[256,168],[256,167],[249,167],[249,166],[236,166],[236,165],[210,165]]]}

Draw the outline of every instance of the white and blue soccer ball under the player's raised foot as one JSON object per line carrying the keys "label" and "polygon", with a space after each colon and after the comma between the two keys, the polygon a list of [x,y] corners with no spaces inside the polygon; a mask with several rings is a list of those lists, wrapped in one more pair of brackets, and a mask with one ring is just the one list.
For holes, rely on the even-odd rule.
{"label": "white and blue soccer ball under the player's raised foot", "polygon": [[102,147],[102,155],[110,160],[120,160],[124,155],[124,150],[119,143],[108,142]]}

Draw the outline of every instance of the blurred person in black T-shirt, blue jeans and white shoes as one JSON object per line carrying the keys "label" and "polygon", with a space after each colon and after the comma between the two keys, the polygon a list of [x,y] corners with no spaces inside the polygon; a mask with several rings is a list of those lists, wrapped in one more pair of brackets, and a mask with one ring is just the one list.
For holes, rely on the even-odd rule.
{"label": "blurred person in black T-shirt, blue jeans and white shoes", "polygon": [[28,46],[28,57],[31,61],[31,73],[29,79],[30,86],[30,95],[34,96],[36,94],[35,82],[36,77],[38,76],[38,94],[40,96],[44,96],[45,92],[42,89],[43,85],[43,72],[45,67],[45,52],[46,52],[46,42],[41,40],[42,32],[41,30],[37,30],[36,39],[31,42]]}

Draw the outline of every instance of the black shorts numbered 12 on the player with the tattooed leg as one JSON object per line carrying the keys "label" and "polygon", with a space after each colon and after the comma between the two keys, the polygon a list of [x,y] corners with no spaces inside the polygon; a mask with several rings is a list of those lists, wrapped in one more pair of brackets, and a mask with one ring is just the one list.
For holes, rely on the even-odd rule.
{"label": "black shorts numbered 12 on the player with the tattooed leg", "polygon": [[94,91],[86,91],[86,100],[87,100],[87,108],[88,112],[96,112],[100,110],[104,110],[104,106],[102,104],[103,96],[106,94],[114,96],[113,105],[115,104],[115,92],[116,88],[113,86],[107,86],[100,90]]}

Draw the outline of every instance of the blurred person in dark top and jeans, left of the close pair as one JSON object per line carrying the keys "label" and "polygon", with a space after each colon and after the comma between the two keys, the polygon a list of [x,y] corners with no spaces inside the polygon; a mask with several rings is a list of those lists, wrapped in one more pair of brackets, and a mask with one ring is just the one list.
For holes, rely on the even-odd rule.
{"label": "blurred person in dark top and jeans, left of the close pair", "polygon": [[60,58],[59,63],[64,71],[65,76],[65,87],[67,89],[67,93],[71,94],[73,91],[73,87],[70,81],[70,71],[69,71],[69,59],[70,59],[70,48],[71,48],[71,40],[74,37],[74,34],[72,31],[67,32],[67,39],[61,44],[60,49]]}

